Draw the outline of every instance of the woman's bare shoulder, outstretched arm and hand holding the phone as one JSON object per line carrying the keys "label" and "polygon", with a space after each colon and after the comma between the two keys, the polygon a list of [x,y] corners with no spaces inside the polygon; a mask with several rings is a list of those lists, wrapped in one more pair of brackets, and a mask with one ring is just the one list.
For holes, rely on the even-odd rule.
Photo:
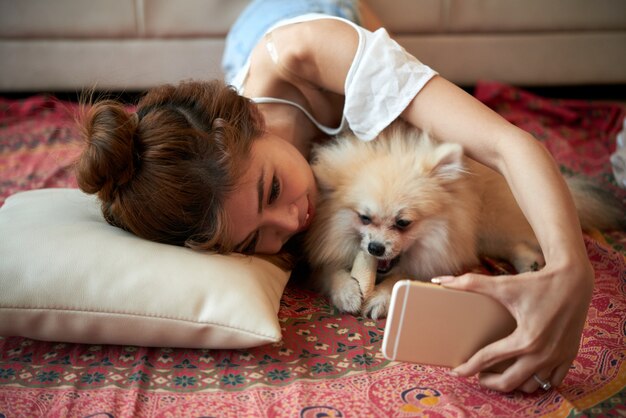
{"label": "woman's bare shoulder, outstretched arm and hand holding the phone", "polygon": [[[298,42],[290,44],[295,36]],[[344,93],[358,45],[350,26],[314,21],[282,28],[274,39],[290,71],[322,89]],[[532,374],[536,373],[559,384],[578,352],[593,270],[572,198],[556,164],[530,134],[442,77],[428,82],[402,117],[438,139],[461,144],[469,156],[499,171],[546,259],[539,272],[498,277],[467,274],[443,280],[445,286],[493,296],[518,320],[510,337],[479,351],[456,372],[469,376],[515,358],[503,374],[483,374],[482,383],[500,391],[534,391],[538,384]]]}

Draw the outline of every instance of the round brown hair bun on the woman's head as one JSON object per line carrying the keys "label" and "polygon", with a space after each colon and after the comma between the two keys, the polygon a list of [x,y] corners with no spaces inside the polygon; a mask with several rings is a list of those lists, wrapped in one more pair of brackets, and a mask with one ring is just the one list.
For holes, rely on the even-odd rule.
{"label": "round brown hair bun on the woman's head", "polygon": [[86,193],[98,193],[107,202],[134,175],[139,118],[121,103],[105,100],[88,108],[81,119],[87,143],[77,163],[78,186]]}

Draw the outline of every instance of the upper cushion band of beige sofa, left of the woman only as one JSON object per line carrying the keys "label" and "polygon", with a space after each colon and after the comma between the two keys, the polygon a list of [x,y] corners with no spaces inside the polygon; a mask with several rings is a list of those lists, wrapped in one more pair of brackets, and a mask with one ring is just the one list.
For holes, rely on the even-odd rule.
{"label": "upper cushion band of beige sofa, left of the woman only", "polygon": [[0,0],[0,38],[224,37],[247,0]]}

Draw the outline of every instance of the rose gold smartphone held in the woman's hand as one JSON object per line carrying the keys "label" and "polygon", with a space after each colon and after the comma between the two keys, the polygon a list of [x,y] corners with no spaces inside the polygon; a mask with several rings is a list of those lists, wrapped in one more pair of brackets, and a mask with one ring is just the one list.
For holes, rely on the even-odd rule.
{"label": "rose gold smartphone held in the woman's hand", "polygon": [[488,296],[400,280],[392,291],[382,352],[389,360],[456,367],[515,327],[509,311]]}

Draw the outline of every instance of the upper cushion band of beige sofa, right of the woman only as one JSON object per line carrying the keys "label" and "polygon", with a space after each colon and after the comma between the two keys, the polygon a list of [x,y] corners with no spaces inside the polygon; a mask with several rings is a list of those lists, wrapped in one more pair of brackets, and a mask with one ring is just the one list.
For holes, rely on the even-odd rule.
{"label": "upper cushion band of beige sofa, right of the woman only", "polygon": [[367,0],[392,33],[626,29],[623,0]]}

